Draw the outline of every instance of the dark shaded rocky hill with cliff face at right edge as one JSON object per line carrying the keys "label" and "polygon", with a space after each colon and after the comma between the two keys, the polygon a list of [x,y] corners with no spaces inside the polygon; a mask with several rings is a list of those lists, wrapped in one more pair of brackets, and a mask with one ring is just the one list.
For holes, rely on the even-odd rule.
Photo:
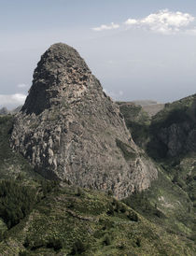
{"label": "dark shaded rocky hill with cliff face at right edge", "polygon": [[151,141],[159,156],[173,158],[196,151],[196,94],[167,104],[150,125]]}

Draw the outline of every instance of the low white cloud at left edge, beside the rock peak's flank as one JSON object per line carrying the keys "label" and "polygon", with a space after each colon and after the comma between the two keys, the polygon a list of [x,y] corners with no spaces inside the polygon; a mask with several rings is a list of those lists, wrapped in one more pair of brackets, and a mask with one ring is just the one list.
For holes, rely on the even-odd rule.
{"label": "low white cloud at left edge, beside the rock peak's flank", "polygon": [[21,93],[0,94],[0,106],[21,105],[24,103],[26,95]]}

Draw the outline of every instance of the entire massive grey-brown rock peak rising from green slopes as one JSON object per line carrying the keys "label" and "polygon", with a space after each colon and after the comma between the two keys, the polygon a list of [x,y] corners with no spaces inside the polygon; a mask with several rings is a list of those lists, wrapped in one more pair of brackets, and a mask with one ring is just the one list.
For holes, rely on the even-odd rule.
{"label": "entire massive grey-brown rock peak rising from green slopes", "polygon": [[37,64],[10,145],[46,178],[112,190],[119,198],[157,178],[119,107],[77,50],[63,43],[52,45]]}

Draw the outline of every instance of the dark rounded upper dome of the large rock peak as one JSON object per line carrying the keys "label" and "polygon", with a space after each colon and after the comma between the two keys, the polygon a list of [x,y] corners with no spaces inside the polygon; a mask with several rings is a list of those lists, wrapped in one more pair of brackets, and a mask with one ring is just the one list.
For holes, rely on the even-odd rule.
{"label": "dark rounded upper dome of the large rock peak", "polygon": [[84,90],[90,76],[77,50],[62,43],[52,45],[35,68],[33,86],[21,111],[38,115],[52,105],[58,106],[64,100],[63,92]]}

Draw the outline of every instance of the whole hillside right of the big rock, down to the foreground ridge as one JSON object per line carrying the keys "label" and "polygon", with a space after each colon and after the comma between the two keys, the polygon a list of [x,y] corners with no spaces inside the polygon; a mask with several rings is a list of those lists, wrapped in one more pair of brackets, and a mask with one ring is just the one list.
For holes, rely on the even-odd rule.
{"label": "whole hillside right of the big rock, down to the foreground ridge", "polygon": [[[167,104],[151,121],[141,107],[120,104],[133,140],[160,165],[146,192],[125,202],[148,220],[196,241],[196,95]],[[135,136],[138,135],[138,136]]]}

